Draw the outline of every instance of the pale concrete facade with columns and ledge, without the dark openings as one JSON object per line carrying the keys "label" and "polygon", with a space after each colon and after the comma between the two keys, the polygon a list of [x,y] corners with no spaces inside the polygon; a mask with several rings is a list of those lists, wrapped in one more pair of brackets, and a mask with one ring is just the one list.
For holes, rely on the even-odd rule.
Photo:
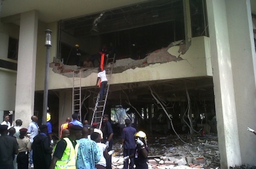
{"label": "pale concrete facade with columns and ledge, without the dark openings", "polygon": [[[108,11],[121,8],[124,12],[124,9],[129,7],[136,11],[138,9],[134,7],[145,8],[144,3],[156,5],[155,1],[144,0],[111,1],[111,3],[100,0],[77,0],[72,3],[62,1],[61,5],[59,1],[4,0],[1,2],[0,115],[8,113],[12,115],[12,120],[22,119],[24,127],[28,126],[32,115],[42,116],[45,77],[44,30],[51,29],[50,60],[52,64],[48,75],[48,105],[50,110],[52,109],[53,119],[57,121],[57,128],[72,114],[72,76],[68,71],[60,72],[58,67],[60,64],[55,64],[58,62],[56,60],[63,58],[64,53],[60,54],[65,48],[63,44],[72,46],[79,43],[81,49],[92,54],[102,43],[98,35],[85,35],[82,30],[74,32],[75,30],[68,28],[68,22],[76,25],[76,22],[71,21],[79,20],[79,17],[94,16],[96,18],[95,16],[99,13],[104,15]],[[173,6],[179,4],[182,9],[184,30],[181,31],[184,32],[185,52],[179,53],[184,43],[173,45],[169,46],[168,53],[174,56],[175,60],[159,62],[150,61],[148,57],[145,64],[126,64],[114,68],[111,82],[109,82],[112,94],[109,96],[108,106],[122,105],[124,102],[126,105],[129,102],[132,105],[139,105],[139,103],[156,105],[156,101],[152,98],[152,91],[157,93],[159,100],[169,104],[176,102],[184,104],[190,98],[195,100],[195,103],[206,101],[207,104],[214,105],[209,108],[209,112],[213,112],[217,119],[221,167],[255,165],[256,148],[253,141],[255,135],[248,132],[247,127],[256,129],[254,122],[256,120],[254,43],[256,3],[249,0],[202,1],[200,4],[203,4],[203,9],[206,10],[202,15],[205,25],[201,36],[195,36],[191,34],[193,32],[191,18],[198,11],[196,7],[191,10],[194,7],[193,2],[192,4],[189,0],[168,2],[173,3]],[[158,4],[158,6],[161,5]],[[188,6],[190,6],[190,12]],[[153,17],[158,14],[154,14]],[[171,14],[167,13],[167,15]],[[179,18],[180,16],[176,15],[177,25],[180,23]],[[68,19],[70,21],[67,21]],[[158,23],[157,19],[152,20],[156,20],[154,24]],[[169,18],[169,20],[173,19]],[[61,30],[63,26],[60,26],[61,21],[66,24],[65,31]],[[127,23],[129,22],[130,20],[127,20]],[[109,25],[113,25],[111,29],[115,29],[115,24]],[[120,25],[122,25],[121,22]],[[121,29],[120,26],[119,31],[126,29],[127,27]],[[209,32],[208,35],[205,31]],[[170,43],[177,40],[181,39],[170,40]],[[11,52],[13,50],[10,46],[14,46],[14,52]],[[60,49],[61,46],[63,50]],[[117,60],[116,65],[121,63],[120,60]],[[74,69],[74,66],[66,69]],[[95,70],[97,68],[84,71],[84,77],[81,79],[81,86],[84,88],[83,96],[87,99],[86,109],[93,107],[94,97],[98,93],[98,88],[95,87],[97,80]],[[169,104],[166,104],[166,107]],[[172,106],[175,110],[180,111],[184,111],[185,106],[190,107],[190,104],[183,107],[175,107],[174,104]],[[206,111],[208,109],[205,108]],[[181,112],[178,114],[182,115]],[[89,110],[84,113],[87,118],[91,115],[92,112]],[[149,121],[152,118],[151,115],[148,116]],[[150,128],[152,128],[151,123]]]}

